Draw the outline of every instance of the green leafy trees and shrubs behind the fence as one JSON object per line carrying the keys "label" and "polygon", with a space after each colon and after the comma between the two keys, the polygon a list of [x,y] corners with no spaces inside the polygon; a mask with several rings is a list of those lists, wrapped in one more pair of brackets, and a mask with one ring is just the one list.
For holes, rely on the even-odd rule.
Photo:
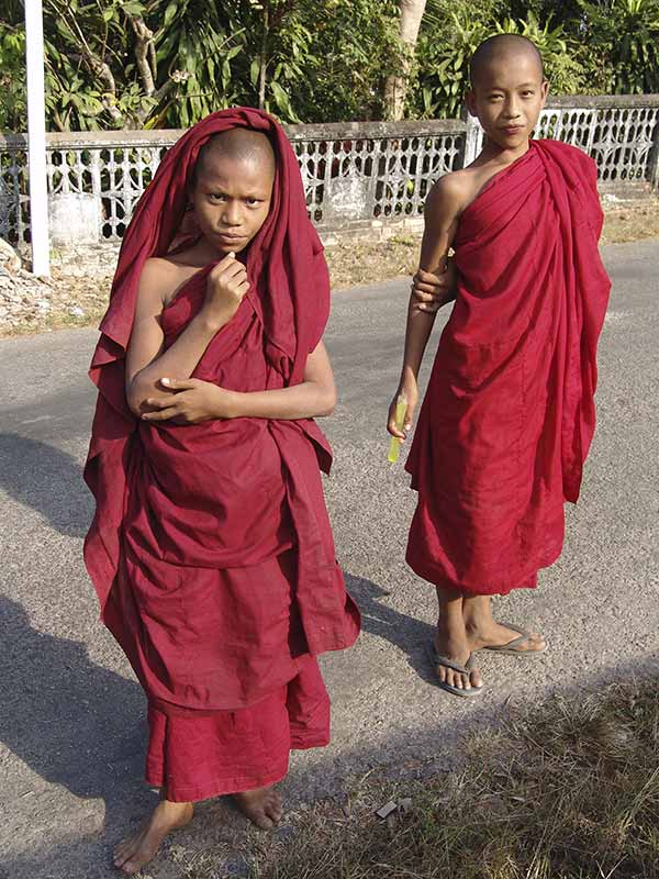
{"label": "green leafy trees and shrubs behind the fence", "polygon": [[[0,11],[0,129],[25,127],[23,3]],[[387,118],[398,0],[44,0],[53,131],[186,127],[236,103],[284,122]],[[659,0],[427,0],[406,115],[455,116],[469,56],[517,32],[555,93],[659,91]]]}

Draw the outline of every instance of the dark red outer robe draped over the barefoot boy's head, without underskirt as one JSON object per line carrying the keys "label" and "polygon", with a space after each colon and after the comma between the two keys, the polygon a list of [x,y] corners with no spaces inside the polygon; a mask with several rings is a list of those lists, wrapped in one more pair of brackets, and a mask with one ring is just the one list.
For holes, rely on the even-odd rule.
{"label": "dark red outer robe draped over the barefoot boy's head, without underskirt", "polygon": [[[85,560],[102,619],[168,713],[253,704],[295,676],[297,656],[346,647],[359,628],[321,485],[331,449],[312,420],[156,426],[126,403],[144,263],[171,249],[201,147],[236,127],[269,137],[272,200],[246,251],[249,291],[192,377],[244,392],[303,380],[328,318],[327,267],[288,138],[244,108],[213,113],[165,155],[126,230],[90,368],[99,397],[85,479],[97,509]],[[202,307],[211,268],[165,308],[166,346]]]}

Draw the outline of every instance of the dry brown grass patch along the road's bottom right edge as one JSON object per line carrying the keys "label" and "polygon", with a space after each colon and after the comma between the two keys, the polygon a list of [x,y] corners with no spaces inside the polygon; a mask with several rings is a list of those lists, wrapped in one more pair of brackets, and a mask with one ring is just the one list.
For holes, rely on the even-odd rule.
{"label": "dry brown grass patch along the road's bottom right edge", "polygon": [[[659,678],[551,699],[469,741],[466,768],[365,782],[261,844],[252,879],[657,879]],[[411,798],[387,821],[373,811]],[[216,867],[215,867],[216,869]],[[190,879],[221,872],[190,872]]]}

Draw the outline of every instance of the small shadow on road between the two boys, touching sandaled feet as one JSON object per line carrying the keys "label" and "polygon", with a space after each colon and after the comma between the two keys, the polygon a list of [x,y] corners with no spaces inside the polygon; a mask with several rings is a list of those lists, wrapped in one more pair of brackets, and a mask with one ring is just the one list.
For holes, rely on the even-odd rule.
{"label": "small shadow on road between the two boys, touching sandaled feet", "polygon": [[391,594],[381,586],[346,574],[346,587],[361,611],[361,625],[370,635],[388,641],[407,656],[407,663],[418,677],[427,683],[435,683],[435,672],[431,661],[429,647],[435,630],[428,623],[400,613],[382,604],[378,599]]}

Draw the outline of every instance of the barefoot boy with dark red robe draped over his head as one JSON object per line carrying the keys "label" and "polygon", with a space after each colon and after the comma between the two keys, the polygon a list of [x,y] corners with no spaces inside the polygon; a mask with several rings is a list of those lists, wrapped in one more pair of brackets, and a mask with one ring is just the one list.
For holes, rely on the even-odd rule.
{"label": "barefoot boy with dark red robe draped over his head", "polygon": [[146,779],[161,790],[115,849],[125,874],[198,800],[233,793],[271,827],[290,749],[328,743],[315,656],[359,628],[312,421],[335,402],[328,309],[281,127],[245,109],[200,122],[135,210],[90,372],[85,558],[147,696]]}

